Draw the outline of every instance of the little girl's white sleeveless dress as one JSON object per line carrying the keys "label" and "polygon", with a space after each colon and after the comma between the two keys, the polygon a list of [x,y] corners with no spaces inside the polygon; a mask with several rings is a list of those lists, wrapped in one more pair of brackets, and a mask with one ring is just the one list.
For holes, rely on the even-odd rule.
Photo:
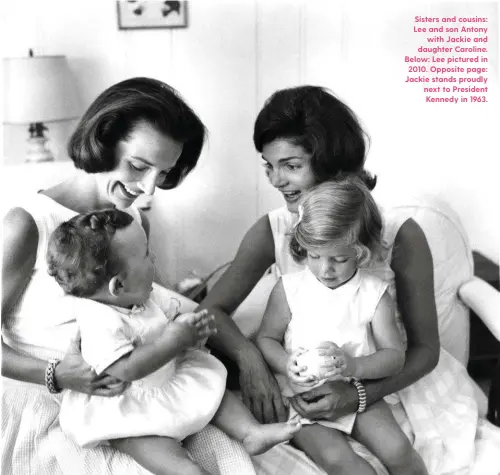
{"label": "little girl's white sleeveless dress", "polygon": [[[286,274],[281,279],[291,313],[284,337],[284,347],[289,354],[299,348],[316,348],[322,341],[335,343],[352,357],[376,351],[370,324],[387,289],[386,282],[362,269],[336,289],[323,285],[308,268]],[[285,396],[304,392],[300,386],[288,384],[286,378],[278,378],[278,381]],[[297,418],[293,407],[290,418]],[[314,422],[350,434],[355,418],[356,414],[349,414],[335,422]]]}

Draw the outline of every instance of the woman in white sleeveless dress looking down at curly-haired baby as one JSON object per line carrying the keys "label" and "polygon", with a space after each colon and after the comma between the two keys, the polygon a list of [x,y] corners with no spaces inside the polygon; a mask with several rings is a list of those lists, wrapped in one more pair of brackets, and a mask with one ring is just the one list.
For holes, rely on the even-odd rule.
{"label": "woman in white sleeveless dress looking down at curly-haired baby", "polygon": [[[81,450],[60,431],[62,390],[110,397],[122,394],[127,383],[105,372],[97,376],[82,359],[73,313],[47,272],[47,242],[62,222],[105,208],[125,210],[148,233],[136,199],[178,186],[196,166],[205,135],[201,120],[168,84],[122,81],[95,99],[71,137],[75,173],[27,196],[4,218],[3,435],[13,464],[7,471],[26,473],[29,466],[30,473],[145,473],[110,447]],[[127,452],[126,444],[120,450]]]}

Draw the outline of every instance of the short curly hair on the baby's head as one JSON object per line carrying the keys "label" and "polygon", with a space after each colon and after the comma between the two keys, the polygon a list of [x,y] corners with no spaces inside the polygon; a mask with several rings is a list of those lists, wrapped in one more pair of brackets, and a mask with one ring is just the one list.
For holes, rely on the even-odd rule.
{"label": "short curly hair on the baby's head", "polygon": [[108,209],[79,214],[62,223],[49,238],[49,274],[67,294],[94,295],[121,270],[120,260],[112,255],[111,241],[117,229],[132,221],[128,213]]}

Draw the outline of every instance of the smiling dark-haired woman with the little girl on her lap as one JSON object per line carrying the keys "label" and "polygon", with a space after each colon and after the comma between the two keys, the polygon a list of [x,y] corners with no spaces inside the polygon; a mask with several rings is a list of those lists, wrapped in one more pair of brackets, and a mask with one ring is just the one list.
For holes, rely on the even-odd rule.
{"label": "smiling dark-haired woman with the little girl on her lap", "polygon": [[[269,422],[287,417],[279,385],[254,342],[228,315],[273,264],[278,277],[302,270],[289,252],[288,232],[306,192],[346,174],[357,175],[369,190],[376,179],[364,168],[368,137],[356,115],[322,87],[275,92],[257,116],[253,139],[269,182],[282,194],[286,206],[261,217],[250,228],[202,307],[216,316],[218,332],[210,343],[228,358],[227,367],[239,378],[243,398],[256,417]],[[394,276],[391,285],[397,289],[408,348],[401,372],[360,383],[368,405],[432,371],[439,357],[432,257],[426,237],[412,219],[395,222],[382,218],[390,260],[384,262],[381,272]],[[336,420],[359,408],[358,388],[347,381],[328,381],[291,398],[290,403],[302,417]]]}

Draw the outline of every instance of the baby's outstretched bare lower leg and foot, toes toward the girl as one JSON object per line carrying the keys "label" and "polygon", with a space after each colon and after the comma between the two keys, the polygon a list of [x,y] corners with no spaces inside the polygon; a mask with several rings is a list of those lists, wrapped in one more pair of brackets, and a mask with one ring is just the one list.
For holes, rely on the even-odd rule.
{"label": "baby's outstretched bare lower leg and foot, toes toward the girl", "polygon": [[290,440],[300,429],[300,424],[296,423],[260,424],[245,404],[227,390],[212,424],[242,442],[251,455]]}

